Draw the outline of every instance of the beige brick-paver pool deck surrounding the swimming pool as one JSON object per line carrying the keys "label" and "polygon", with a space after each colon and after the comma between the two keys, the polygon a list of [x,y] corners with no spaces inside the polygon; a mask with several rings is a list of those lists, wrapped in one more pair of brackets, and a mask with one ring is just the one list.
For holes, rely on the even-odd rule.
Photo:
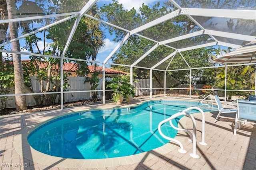
{"label": "beige brick-paver pool deck surrounding the swimming pool", "polygon": [[[256,126],[242,125],[237,134],[234,131],[234,114],[221,114],[214,119],[217,111],[205,113],[205,142],[199,144],[202,135],[202,115],[193,114],[197,131],[196,153],[200,158],[192,158],[192,143],[188,135],[178,132],[175,139],[181,141],[188,152],[178,152],[178,145],[168,143],[163,147],[133,156],[120,158],[78,160],[58,158],[34,150],[27,142],[28,133],[44,121],[66,113],[88,109],[118,108],[137,106],[146,100],[180,100],[177,98],[136,99],[132,104],[117,106],[113,103],[70,107],[63,111],[53,110],[36,113],[4,115],[0,117],[0,170],[253,170],[256,169]],[[225,117],[224,117],[225,116]],[[180,120],[180,127],[192,131],[192,121],[188,117]]]}

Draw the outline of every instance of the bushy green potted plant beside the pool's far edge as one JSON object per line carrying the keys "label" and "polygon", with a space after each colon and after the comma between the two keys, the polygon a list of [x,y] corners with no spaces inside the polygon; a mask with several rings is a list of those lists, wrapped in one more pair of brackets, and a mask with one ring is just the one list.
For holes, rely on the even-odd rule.
{"label": "bushy green potted plant beside the pool's far edge", "polygon": [[107,87],[112,89],[112,100],[115,103],[121,104],[124,98],[130,103],[135,96],[135,87],[130,84],[130,76],[128,74],[120,74],[113,77],[108,82]]}

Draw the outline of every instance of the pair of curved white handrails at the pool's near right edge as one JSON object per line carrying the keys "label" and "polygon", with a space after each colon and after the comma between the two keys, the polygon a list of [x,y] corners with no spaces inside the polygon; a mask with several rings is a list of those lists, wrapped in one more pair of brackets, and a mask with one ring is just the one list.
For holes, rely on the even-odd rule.
{"label": "pair of curved white handrails at the pool's near right edge", "polygon": [[168,122],[170,123],[170,125],[176,129],[176,130],[180,130],[180,131],[186,131],[189,135],[190,135],[190,139],[191,139],[191,132],[188,131],[188,129],[180,129],[178,127],[175,127],[173,124],[172,124],[172,119],[175,119],[176,117],[179,117],[181,115],[186,115],[188,117],[190,117],[190,119],[192,119],[192,123],[193,123],[193,134],[192,134],[192,142],[193,142],[193,152],[190,153],[190,156],[192,158],[199,158],[200,156],[198,154],[196,154],[196,120],[195,118],[190,114],[190,113],[186,113],[186,111],[189,111],[189,110],[192,110],[192,109],[197,109],[198,111],[200,111],[202,113],[202,141],[199,142],[200,145],[204,145],[206,146],[207,144],[205,143],[204,141],[204,136],[205,136],[205,116],[204,116],[204,111],[202,109],[200,109],[199,107],[189,107],[187,109],[184,109],[183,111],[180,111],[178,113],[175,113],[174,115],[172,115],[171,117],[167,118],[167,119],[164,119],[163,121],[161,121],[159,124],[158,124],[158,131],[160,133],[160,135],[162,137],[164,137],[165,139],[167,140],[170,140],[170,141],[173,141],[175,143],[178,143],[178,145],[180,145],[180,149],[178,149],[178,151],[180,153],[186,153],[187,151],[184,149],[182,143],[180,141],[178,141],[177,139],[174,139],[174,138],[171,138],[171,137],[167,137],[166,135],[164,135],[161,131],[161,126]]}

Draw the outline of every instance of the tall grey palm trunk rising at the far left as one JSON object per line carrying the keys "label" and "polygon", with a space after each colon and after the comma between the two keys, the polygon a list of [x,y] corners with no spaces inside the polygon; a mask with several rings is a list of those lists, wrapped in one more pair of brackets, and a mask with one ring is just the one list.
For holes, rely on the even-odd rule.
{"label": "tall grey palm trunk rising at the far left", "polygon": [[[8,18],[12,19],[13,16],[16,16],[16,4],[14,0],[6,0],[7,2],[7,10],[8,10]],[[9,23],[10,29],[10,37],[11,39],[18,37],[18,29],[16,22]],[[20,51],[20,42],[13,41],[12,42],[12,50],[13,51]],[[25,86],[24,86],[24,78],[22,72],[22,63],[20,54],[12,54],[13,57],[13,67],[14,67],[14,83],[15,83],[15,94],[25,93]],[[26,110],[26,97],[25,96],[15,96],[16,99],[16,110]]]}

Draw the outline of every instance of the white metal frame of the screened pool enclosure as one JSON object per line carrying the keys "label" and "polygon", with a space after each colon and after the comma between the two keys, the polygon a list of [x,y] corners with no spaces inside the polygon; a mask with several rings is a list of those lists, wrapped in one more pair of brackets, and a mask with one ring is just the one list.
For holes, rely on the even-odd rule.
{"label": "white metal frame of the screened pool enclosure", "polygon": [[[168,71],[174,71],[174,70],[168,70],[168,66],[166,69],[157,69],[158,66],[160,66],[162,63],[168,61],[168,59],[171,59],[170,63],[172,62],[172,59],[174,58],[174,56],[178,53],[180,54],[180,56],[182,57],[182,59],[184,60],[184,62],[186,63],[186,65],[188,66],[188,68],[184,68],[184,69],[177,69],[177,70],[190,70],[190,87],[191,87],[191,72],[193,69],[200,69],[200,68],[192,68],[188,62],[184,59],[184,57],[182,56],[182,54],[180,52],[182,51],[187,51],[187,50],[192,50],[192,49],[198,49],[198,48],[202,48],[202,47],[210,47],[210,46],[214,46],[214,45],[222,45],[222,46],[226,46],[226,47],[232,47],[232,48],[239,48],[242,47],[241,44],[236,44],[236,43],[229,43],[229,42],[225,42],[225,41],[220,41],[218,40],[217,37],[222,37],[225,39],[234,39],[234,40],[242,40],[242,41],[255,41],[256,40],[256,36],[255,35],[246,35],[246,34],[240,34],[240,33],[233,33],[233,32],[227,32],[227,31],[219,31],[219,30],[214,30],[214,29],[209,29],[206,28],[205,25],[203,25],[202,23],[200,23],[200,21],[196,20],[195,18],[197,17],[212,17],[212,18],[227,18],[227,19],[237,19],[237,20],[252,20],[255,21],[254,26],[256,27],[256,9],[255,7],[252,8],[252,10],[244,10],[244,9],[209,9],[209,8],[183,8],[182,6],[180,6],[178,4],[178,2],[174,1],[174,0],[170,0],[170,2],[172,4],[174,4],[176,6],[176,8],[178,8],[177,10],[174,10],[173,12],[166,14],[160,18],[156,18],[153,21],[150,21],[148,23],[145,23],[144,25],[141,25],[135,29],[132,30],[127,30],[123,27],[120,27],[118,25],[114,25],[112,23],[109,23],[107,21],[95,18],[93,16],[90,16],[88,14],[86,14],[86,12],[88,10],[90,10],[90,8],[92,8],[92,6],[94,6],[94,4],[96,4],[98,0],[89,0],[89,2],[87,2],[87,4],[78,12],[70,12],[70,13],[63,13],[63,14],[55,14],[55,15],[50,15],[50,16],[34,16],[34,17],[26,17],[26,18],[17,18],[17,19],[10,19],[10,20],[1,20],[0,23],[8,23],[8,22],[17,22],[20,20],[23,21],[28,21],[28,20],[36,20],[38,18],[50,18],[50,17],[60,17],[60,16],[68,16],[66,18],[63,18],[62,20],[56,21],[54,23],[50,23],[49,25],[46,25],[44,27],[41,27],[39,29],[36,29],[30,33],[24,34],[20,37],[17,37],[16,39],[12,39],[10,41],[6,41],[2,44],[0,44],[0,47],[4,47],[5,45],[10,44],[12,41],[17,41],[20,40],[24,37],[27,37],[29,35],[35,34],[37,32],[40,32],[44,29],[47,29],[49,27],[52,27],[54,25],[57,25],[59,23],[62,23],[66,20],[70,20],[71,18],[76,17],[76,21],[72,27],[72,30],[70,32],[70,35],[68,35],[68,39],[66,41],[66,45],[64,47],[63,53],[61,56],[50,56],[50,55],[40,55],[40,54],[36,54],[36,53],[25,53],[25,52],[20,52],[20,51],[11,51],[11,50],[4,50],[4,49],[0,49],[0,52],[6,52],[6,53],[18,53],[18,54],[25,54],[25,55],[35,55],[35,56],[44,56],[44,57],[53,57],[53,58],[58,58],[61,60],[60,62],[60,76],[61,76],[61,81],[60,81],[60,92],[50,92],[47,94],[60,94],[61,97],[61,109],[63,109],[63,105],[64,105],[64,99],[63,99],[63,95],[64,93],[69,93],[69,92],[64,92],[63,91],[63,60],[65,59],[71,59],[74,61],[84,61],[84,62],[92,62],[92,63],[100,63],[103,66],[103,89],[99,90],[100,92],[103,93],[103,104],[106,103],[105,100],[105,94],[106,94],[106,76],[105,76],[105,68],[106,68],[106,64],[112,64],[112,65],[120,65],[120,66],[128,66],[130,67],[130,82],[133,82],[133,78],[132,78],[132,73],[133,73],[133,68],[144,68],[144,69],[148,69],[150,70],[150,98],[152,98],[152,71],[153,70],[158,70],[158,71],[162,71],[164,72],[164,89],[166,89],[166,72]],[[186,7],[186,6],[185,6]],[[194,31],[192,33],[187,33],[185,35],[180,35],[178,37],[173,37],[170,39],[166,39],[166,40],[162,40],[162,41],[158,41],[156,39],[151,39],[150,37],[145,37],[143,35],[140,35],[139,33],[141,31],[144,31],[150,27],[153,27],[155,25],[158,25],[160,23],[163,23],[165,21],[168,21],[172,18],[175,18],[177,16],[181,16],[181,15],[185,15],[188,18],[190,18],[190,20],[192,20],[201,30],[199,31]],[[66,51],[72,41],[72,37],[76,31],[76,28],[80,22],[80,19],[82,16],[86,16],[89,18],[92,18],[94,20],[100,21],[106,25],[110,25],[112,27],[115,27],[117,29],[121,29],[123,31],[126,31],[127,34],[125,35],[125,37],[122,39],[122,41],[120,41],[118,43],[118,45],[113,49],[113,51],[106,57],[106,59],[104,59],[103,62],[98,62],[98,61],[88,61],[88,60],[83,60],[83,59],[74,59],[74,58],[68,58],[68,57],[64,57],[66,54]],[[150,50],[148,50],[146,53],[144,53],[144,55],[142,55],[139,59],[137,59],[134,63],[132,64],[118,64],[118,63],[111,63],[109,62],[109,60],[111,59],[112,55],[114,55],[114,53],[116,53],[118,51],[118,49],[128,40],[128,38],[132,35],[137,35],[139,37],[148,39],[154,43],[156,43]],[[183,48],[176,48],[176,47],[172,47],[170,46],[170,43],[173,42],[177,42],[177,41],[181,41],[184,39],[189,39],[191,37],[196,37],[196,36],[200,36],[200,35],[208,35],[212,38],[213,42],[207,42],[204,44],[200,44],[200,45],[192,45],[190,47],[183,47]],[[138,66],[137,64],[140,63],[140,61],[142,61],[145,57],[147,57],[152,51],[154,51],[157,47],[164,45],[165,47],[168,48],[172,48],[174,49],[174,52],[171,53],[170,55],[168,55],[167,57],[164,57],[164,59],[158,61],[157,64],[154,64],[151,67],[142,67],[142,66]],[[169,65],[170,65],[169,63]],[[250,63],[249,65],[251,65],[252,63]],[[235,65],[224,65],[224,66],[212,66],[212,68],[215,67],[225,67],[227,68],[228,66],[239,66],[239,65],[248,65],[248,64],[235,64]],[[202,69],[202,68],[201,68]],[[226,77],[226,72],[225,72],[225,77]],[[256,78],[255,78],[256,79]],[[255,80],[255,84],[254,86],[256,86],[256,80]],[[202,90],[202,89],[195,89],[195,90]],[[86,90],[86,91],[72,91],[74,93],[76,92],[92,92],[93,90]],[[165,90],[164,90],[165,91]],[[226,79],[225,79],[225,98],[226,98]],[[239,91],[239,90],[236,90]],[[249,92],[255,92],[256,94],[256,90],[243,90],[243,91],[249,91]],[[33,95],[33,94],[45,94],[45,93],[28,93],[28,94],[8,94],[8,95],[0,95],[0,97],[3,96],[18,96],[18,95]],[[190,96],[191,96],[191,88],[190,88]]]}

